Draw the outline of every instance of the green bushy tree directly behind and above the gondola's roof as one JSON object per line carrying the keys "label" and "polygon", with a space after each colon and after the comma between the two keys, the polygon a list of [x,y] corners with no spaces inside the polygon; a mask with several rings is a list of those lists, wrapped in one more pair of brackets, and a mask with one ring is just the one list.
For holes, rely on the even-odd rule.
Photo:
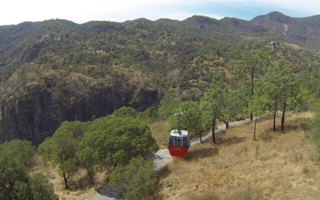
{"label": "green bushy tree directly behind and above the gondola's roof", "polygon": [[[187,130],[190,134],[194,134],[200,130],[201,127],[201,109],[192,101],[184,101],[179,104],[177,108],[173,110],[173,113],[179,113],[186,111],[180,118],[180,129]],[[177,129],[178,118],[176,116],[170,116],[168,119],[167,131]]]}

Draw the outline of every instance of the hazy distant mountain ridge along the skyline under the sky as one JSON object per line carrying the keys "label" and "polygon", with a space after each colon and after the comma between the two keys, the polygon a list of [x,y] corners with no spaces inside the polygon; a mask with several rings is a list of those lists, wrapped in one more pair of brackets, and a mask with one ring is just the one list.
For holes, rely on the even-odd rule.
{"label": "hazy distant mountain ridge along the skyline under the sky", "polygon": [[[133,20],[126,20],[123,22],[114,21],[87,21],[85,23],[75,23],[66,19],[49,19],[36,22],[21,22],[17,25],[2,25],[0,26],[0,35],[10,34],[10,31],[18,31],[19,28],[25,28],[24,33],[27,35],[35,29],[40,28],[43,24],[51,24],[51,26],[68,26],[68,28],[84,30],[91,27],[99,29],[99,31],[108,31],[109,29],[122,30],[125,26],[134,23],[145,24],[165,24],[170,28],[193,28],[204,31],[231,31],[232,34],[239,32],[272,32],[279,36],[287,38],[289,41],[301,45],[312,50],[320,51],[320,14],[307,17],[291,17],[278,11],[271,11],[267,14],[262,14],[253,17],[251,20],[240,19],[235,17],[223,17],[215,19],[204,15],[192,15],[183,20],[159,18],[150,20],[147,18],[137,18]],[[25,27],[26,24],[30,27]],[[6,32],[5,32],[6,31]],[[21,31],[21,30],[20,30]],[[3,33],[4,32],[4,33]],[[23,37],[23,36],[22,36]],[[4,38],[5,39],[5,38]],[[11,38],[10,38],[11,39]],[[13,38],[12,41],[17,41]],[[0,45],[3,45],[0,41]],[[8,42],[7,45],[12,45]],[[0,49],[3,52],[3,49]]]}

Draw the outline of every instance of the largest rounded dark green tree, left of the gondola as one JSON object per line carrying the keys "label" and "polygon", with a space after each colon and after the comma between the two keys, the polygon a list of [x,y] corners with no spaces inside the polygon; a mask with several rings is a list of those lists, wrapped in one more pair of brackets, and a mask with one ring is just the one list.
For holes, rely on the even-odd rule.
{"label": "largest rounded dark green tree, left of the gondola", "polygon": [[82,146],[92,148],[96,164],[103,168],[126,164],[138,155],[149,157],[159,149],[147,125],[131,116],[96,119],[88,126]]}

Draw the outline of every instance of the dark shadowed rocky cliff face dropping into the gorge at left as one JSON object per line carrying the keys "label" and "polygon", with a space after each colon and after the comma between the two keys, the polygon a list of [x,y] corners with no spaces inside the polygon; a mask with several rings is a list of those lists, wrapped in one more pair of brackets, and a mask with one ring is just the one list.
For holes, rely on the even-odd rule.
{"label": "dark shadowed rocky cliff face dropping into the gorge at left", "polygon": [[[105,116],[123,105],[145,106],[159,100],[158,91],[139,85],[98,83],[69,90],[57,98],[51,88],[32,84],[19,97],[9,96],[0,104],[0,142],[29,137],[40,143],[48,132],[64,120],[90,120],[92,115]],[[46,134],[40,134],[48,132]],[[32,136],[35,135],[35,136]]]}

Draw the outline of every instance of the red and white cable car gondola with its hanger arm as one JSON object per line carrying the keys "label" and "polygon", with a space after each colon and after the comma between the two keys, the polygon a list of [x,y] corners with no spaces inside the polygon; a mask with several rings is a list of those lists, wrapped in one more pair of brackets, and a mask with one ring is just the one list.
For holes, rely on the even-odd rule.
{"label": "red and white cable car gondola with its hanger arm", "polygon": [[178,129],[171,130],[170,137],[167,142],[169,153],[174,157],[185,157],[186,152],[190,147],[188,131],[179,129],[180,115],[183,113],[184,112],[174,114],[174,116],[178,116]]}

